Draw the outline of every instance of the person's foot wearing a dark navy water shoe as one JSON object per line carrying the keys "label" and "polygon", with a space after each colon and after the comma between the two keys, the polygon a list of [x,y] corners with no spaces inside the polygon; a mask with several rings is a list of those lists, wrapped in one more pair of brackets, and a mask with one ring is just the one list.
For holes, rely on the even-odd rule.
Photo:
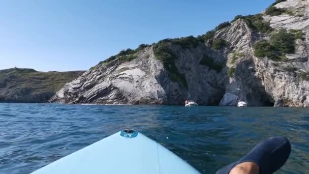
{"label": "person's foot wearing a dark navy water shoe", "polygon": [[284,165],[290,152],[291,144],[287,138],[272,137],[260,142],[249,154],[216,173],[270,174]]}

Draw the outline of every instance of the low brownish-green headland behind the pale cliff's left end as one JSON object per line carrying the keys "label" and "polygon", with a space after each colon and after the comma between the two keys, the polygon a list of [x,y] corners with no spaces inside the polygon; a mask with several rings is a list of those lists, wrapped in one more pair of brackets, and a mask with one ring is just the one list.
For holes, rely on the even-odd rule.
{"label": "low brownish-green headland behind the pale cliff's left end", "polygon": [[0,102],[47,102],[66,82],[83,72],[38,72],[22,68],[0,70]]}

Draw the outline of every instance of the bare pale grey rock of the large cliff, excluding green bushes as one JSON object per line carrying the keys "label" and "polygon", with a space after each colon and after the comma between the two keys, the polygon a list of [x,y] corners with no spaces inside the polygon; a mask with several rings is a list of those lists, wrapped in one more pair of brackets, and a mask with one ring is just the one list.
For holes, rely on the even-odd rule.
{"label": "bare pale grey rock of the large cliff, excluding green bushes", "polygon": [[[256,33],[238,19],[196,47],[169,43],[176,56],[175,66],[187,85],[171,80],[169,71],[155,56],[154,46],[149,46],[130,62],[115,59],[97,65],[67,83],[50,102],[183,105],[184,100],[191,99],[199,105],[236,106],[240,100],[248,106],[308,107],[309,82],[301,78],[301,73],[309,71],[309,1],[287,0],[275,7],[288,9],[293,15],[267,16],[262,12],[274,31],[286,28],[304,33],[303,40],[296,40],[295,53],[286,55],[286,62],[256,57],[255,42],[269,39],[270,35]],[[214,39],[229,44],[214,50]],[[212,57],[214,63],[224,64],[224,68],[215,71],[201,65],[204,55]],[[228,74],[231,69],[233,73]]]}

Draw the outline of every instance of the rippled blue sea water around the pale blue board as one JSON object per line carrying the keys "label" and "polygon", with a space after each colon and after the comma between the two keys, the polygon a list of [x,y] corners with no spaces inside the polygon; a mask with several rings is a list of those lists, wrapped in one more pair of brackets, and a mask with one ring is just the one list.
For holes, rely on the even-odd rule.
{"label": "rippled blue sea water around the pale blue board", "polygon": [[277,173],[309,172],[307,108],[0,103],[0,173],[32,172],[124,128],[139,130],[202,173],[284,135],[292,153]]}

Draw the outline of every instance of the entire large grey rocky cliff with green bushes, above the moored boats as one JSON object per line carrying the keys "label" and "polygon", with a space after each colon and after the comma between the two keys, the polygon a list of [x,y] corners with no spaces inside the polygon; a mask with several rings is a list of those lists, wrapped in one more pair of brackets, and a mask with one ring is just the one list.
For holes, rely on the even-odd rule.
{"label": "entire large grey rocky cliff with green bushes, above the moored boats", "polygon": [[309,0],[277,0],[198,37],[122,50],[50,102],[309,106]]}

